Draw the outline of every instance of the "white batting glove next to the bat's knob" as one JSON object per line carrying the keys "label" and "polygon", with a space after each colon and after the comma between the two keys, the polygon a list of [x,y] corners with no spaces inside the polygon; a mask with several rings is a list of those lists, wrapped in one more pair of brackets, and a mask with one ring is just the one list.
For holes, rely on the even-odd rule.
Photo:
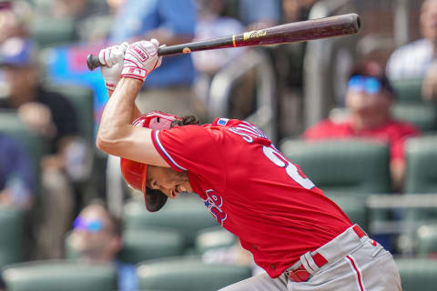
{"label": "white batting glove next to the bat's knob", "polygon": [[102,49],[98,54],[100,63],[104,65],[101,67],[101,70],[108,90],[114,91],[118,81],[120,81],[121,72],[123,70],[123,59],[128,45],[127,43],[123,43],[121,45],[109,46]]}

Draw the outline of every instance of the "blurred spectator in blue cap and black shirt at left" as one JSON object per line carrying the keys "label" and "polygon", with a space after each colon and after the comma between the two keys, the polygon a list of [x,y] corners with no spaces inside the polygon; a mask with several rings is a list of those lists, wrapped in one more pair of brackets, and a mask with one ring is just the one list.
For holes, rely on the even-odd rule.
{"label": "blurred spectator in blue cap and black shirt at left", "polygon": [[[78,144],[78,125],[75,109],[66,97],[48,92],[40,84],[36,53],[35,45],[22,38],[9,38],[0,47],[0,66],[8,87],[8,97],[0,99],[0,109],[16,110],[32,132],[46,139],[48,155],[41,165],[44,217],[40,254],[57,258],[62,255],[65,232],[74,216],[73,188],[66,176],[71,165],[66,164],[66,153]],[[81,155],[80,150],[75,152]],[[78,156],[76,160],[85,162],[85,158]]]}

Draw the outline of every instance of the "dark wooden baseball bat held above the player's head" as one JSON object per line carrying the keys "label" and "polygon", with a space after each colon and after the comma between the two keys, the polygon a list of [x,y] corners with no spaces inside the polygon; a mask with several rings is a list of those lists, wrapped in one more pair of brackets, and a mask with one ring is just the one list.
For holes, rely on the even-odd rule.
{"label": "dark wooden baseball bat held above the player's head", "polygon": [[[304,42],[308,40],[333,36],[354,35],[361,27],[360,16],[356,14],[337,15],[320,19],[277,25],[265,29],[253,30],[238,35],[202,40],[182,45],[170,45],[158,48],[158,55],[189,54],[208,49],[276,45],[284,43]],[[88,55],[86,65],[92,71],[102,66],[98,56]]]}

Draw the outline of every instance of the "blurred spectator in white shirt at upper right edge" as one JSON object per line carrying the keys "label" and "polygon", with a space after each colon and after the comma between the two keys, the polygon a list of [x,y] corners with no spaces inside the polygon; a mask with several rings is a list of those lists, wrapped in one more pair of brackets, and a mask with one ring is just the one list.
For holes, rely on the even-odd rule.
{"label": "blurred spectator in white shirt at upper right edge", "polygon": [[387,63],[387,75],[393,80],[424,78],[422,95],[437,98],[437,1],[425,0],[420,17],[422,39],[396,49]]}

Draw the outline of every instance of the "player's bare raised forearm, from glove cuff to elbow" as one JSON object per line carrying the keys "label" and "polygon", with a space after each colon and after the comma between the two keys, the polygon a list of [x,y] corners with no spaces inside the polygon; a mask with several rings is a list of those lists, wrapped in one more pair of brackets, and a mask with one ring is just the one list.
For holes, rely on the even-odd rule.
{"label": "player's bare raised forearm, from glove cuff to elbow", "polygon": [[112,149],[132,130],[132,119],[137,114],[135,98],[143,83],[134,78],[123,78],[109,98],[97,132],[97,147],[113,154]]}

